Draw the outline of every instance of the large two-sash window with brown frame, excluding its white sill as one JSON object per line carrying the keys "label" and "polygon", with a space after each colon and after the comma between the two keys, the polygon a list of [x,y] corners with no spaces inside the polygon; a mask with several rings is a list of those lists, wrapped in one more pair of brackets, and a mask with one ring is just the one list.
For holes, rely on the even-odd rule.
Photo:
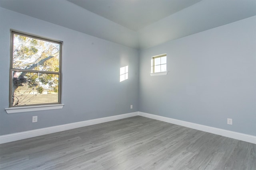
{"label": "large two-sash window with brown frame, excluding its white sill", "polygon": [[62,42],[11,32],[10,107],[60,104]]}

